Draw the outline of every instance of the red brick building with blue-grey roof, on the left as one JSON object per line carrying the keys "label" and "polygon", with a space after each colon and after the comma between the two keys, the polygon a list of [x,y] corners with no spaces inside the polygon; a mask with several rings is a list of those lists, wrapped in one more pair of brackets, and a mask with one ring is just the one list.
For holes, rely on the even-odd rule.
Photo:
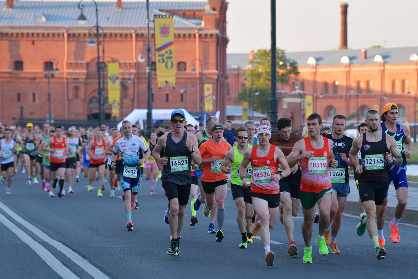
{"label": "red brick building with blue-grey roof, on the left", "polygon": [[[48,113],[47,70],[59,68],[51,79],[54,119],[98,118],[97,48],[89,47],[89,29],[95,26],[94,3],[84,1],[88,22],[77,23],[77,2],[0,1],[0,121],[20,118],[46,119]],[[99,26],[104,29],[104,61],[120,63],[120,77],[130,77],[121,90],[125,115],[146,108],[146,5],[145,1],[97,2]],[[207,2],[150,2],[154,14],[173,14],[175,28],[176,88],[158,89],[153,74],[153,108],[186,108],[199,115],[201,81],[212,83],[214,110],[226,118],[225,0]],[[94,32],[94,31],[93,31]],[[155,61],[153,24],[150,28],[152,61]],[[95,37],[95,32],[93,33]],[[102,41],[103,34],[100,35]],[[100,55],[102,55],[100,45]],[[101,58],[102,60],[102,58]],[[191,68],[196,73],[191,73]],[[203,78],[200,78],[200,73]],[[104,77],[107,77],[106,69]],[[194,86],[191,87],[190,85]],[[181,93],[186,89],[186,93]],[[187,96],[185,95],[187,94]],[[187,101],[187,104],[186,104]],[[110,119],[111,106],[105,106]],[[119,120],[119,118],[117,119]]]}

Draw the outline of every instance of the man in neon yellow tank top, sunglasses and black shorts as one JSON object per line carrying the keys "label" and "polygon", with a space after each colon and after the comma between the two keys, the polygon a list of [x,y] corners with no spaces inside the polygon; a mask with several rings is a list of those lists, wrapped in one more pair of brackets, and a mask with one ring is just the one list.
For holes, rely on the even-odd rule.
{"label": "man in neon yellow tank top, sunglasses and black shorts", "polygon": [[[231,175],[231,191],[232,199],[237,205],[238,216],[237,223],[240,229],[242,241],[238,248],[247,248],[248,240],[252,243],[252,232],[251,232],[251,218],[254,213],[254,207],[252,206],[250,188],[242,186],[240,165],[244,158],[244,153],[252,146],[247,143],[248,131],[244,127],[237,128],[235,130],[235,139],[237,145],[230,149],[222,161],[221,170],[228,174],[232,169]],[[250,179],[251,182],[251,165],[248,164],[245,169],[245,176]]]}

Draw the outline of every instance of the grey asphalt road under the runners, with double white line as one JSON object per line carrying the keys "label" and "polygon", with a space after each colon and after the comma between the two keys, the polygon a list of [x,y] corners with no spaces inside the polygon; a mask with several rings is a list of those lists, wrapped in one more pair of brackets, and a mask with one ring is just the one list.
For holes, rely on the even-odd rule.
{"label": "grey asphalt road under the runners, with double white line", "polygon": [[247,278],[257,274],[265,278],[416,278],[417,224],[399,225],[401,240],[396,244],[390,242],[386,225],[387,256],[378,261],[367,232],[362,237],[355,232],[357,216],[345,214],[337,237],[341,254],[321,256],[313,237],[313,264],[303,264],[300,211],[293,219],[299,255],[288,255],[288,240],[278,221],[270,230],[275,264],[266,267],[259,239],[247,249],[238,249],[237,210],[228,191],[222,242],[207,233],[209,218],[201,211],[199,223],[189,226],[188,205],[181,254],[174,258],[166,253],[170,232],[163,220],[167,198],[160,181],[155,196],[149,195],[149,181],[141,187],[140,208],[133,212],[130,232],[125,228],[122,192],[110,198],[107,184],[104,197],[99,198],[96,191],[87,192],[86,182],[82,178],[75,184],[75,193],[62,198],[48,197],[40,184],[28,187],[22,174],[16,175],[11,196],[5,195],[6,184],[0,184],[1,278]]}

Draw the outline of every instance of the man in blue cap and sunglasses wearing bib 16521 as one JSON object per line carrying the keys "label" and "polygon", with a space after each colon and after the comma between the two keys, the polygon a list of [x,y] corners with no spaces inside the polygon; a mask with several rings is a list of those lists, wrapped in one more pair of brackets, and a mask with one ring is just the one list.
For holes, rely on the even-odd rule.
{"label": "man in blue cap and sunglasses wearing bib 16521", "polygon": [[[190,163],[192,159],[196,164],[201,163],[196,136],[184,131],[186,124],[184,111],[174,110],[171,113],[173,132],[158,139],[152,154],[163,165],[161,182],[170,204],[171,245],[167,254],[175,257],[180,254],[180,235],[190,194]],[[161,158],[159,153],[163,148],[165,153]]]}

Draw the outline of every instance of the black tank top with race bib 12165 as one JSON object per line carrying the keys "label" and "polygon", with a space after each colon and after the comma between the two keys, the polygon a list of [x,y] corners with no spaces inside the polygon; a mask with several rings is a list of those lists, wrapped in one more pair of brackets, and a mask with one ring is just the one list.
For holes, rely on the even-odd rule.
{"label": "black tank top with race bib 12165", "polygon": [[390,153],[386,143],[386,133],[382,133],[382,139],[377,142],[369,142],[363,134],[362,167],[363,172],[359,180],[370,182],[387,182],[389,177],[389,163],[386,161],[386,152]]}

